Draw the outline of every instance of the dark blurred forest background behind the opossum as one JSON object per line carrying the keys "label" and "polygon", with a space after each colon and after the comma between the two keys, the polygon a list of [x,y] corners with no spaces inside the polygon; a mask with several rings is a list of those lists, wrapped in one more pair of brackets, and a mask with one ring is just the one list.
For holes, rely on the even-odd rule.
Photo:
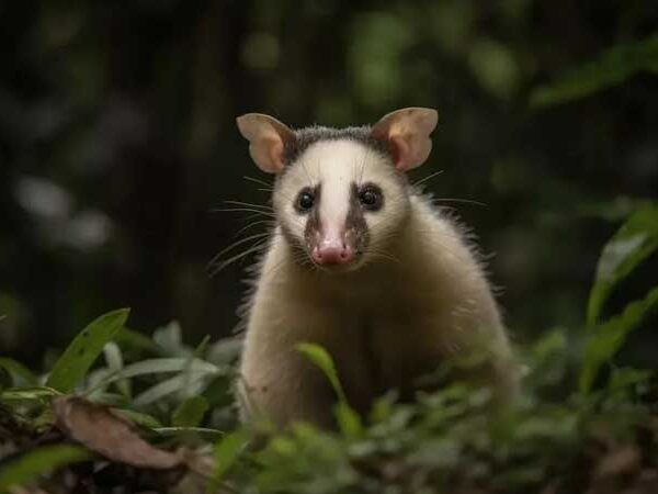
{"label": "dark blurred forest background behind the opossum", "polygon": [[[658,198],[657,43],[650,67],[624,50],[657,26],[653,0],[0,2],[0,353],[38,367],[123,306],[135,329],[230,334],[245,266],[208,265],[247,224],[213,210],[266,201],[243,179],[269,179],[235,126],[248,111],[344,126],[436,108],[412,178],[444,170],[428,190],[486,204],[445,203],[492,254],[517,340],[577,334],[601,246]],[[551,86],[615,47],[609,87]],[[626,358],[655,366],[636,335]]]}

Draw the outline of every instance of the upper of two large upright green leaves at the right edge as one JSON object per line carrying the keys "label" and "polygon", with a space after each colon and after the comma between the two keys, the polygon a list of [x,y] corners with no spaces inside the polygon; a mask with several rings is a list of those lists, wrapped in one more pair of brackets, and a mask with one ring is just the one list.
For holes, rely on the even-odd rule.
{"label": "upper of two large upright green leaves at the right edge", "polygon": [[658,249],[658,204],[635,211],[608,242],[597,267],[597,277],[587,307],[587,324],[592,327],[603,304],[620,281]]}

